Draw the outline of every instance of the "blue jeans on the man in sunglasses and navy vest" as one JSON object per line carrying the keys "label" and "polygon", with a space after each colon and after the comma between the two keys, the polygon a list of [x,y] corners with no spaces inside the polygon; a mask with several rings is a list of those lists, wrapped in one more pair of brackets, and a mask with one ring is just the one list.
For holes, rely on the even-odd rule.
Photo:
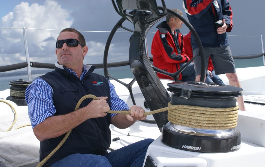
{"label": "blue jeans on the man in sunglasses and navy vest", "polygon": [[51,167],[142,167],[148,146],[153,141],[153,139],[141,140],[118,150],[111,151],[105,156],[94,154],[72,154],[52,164]]}

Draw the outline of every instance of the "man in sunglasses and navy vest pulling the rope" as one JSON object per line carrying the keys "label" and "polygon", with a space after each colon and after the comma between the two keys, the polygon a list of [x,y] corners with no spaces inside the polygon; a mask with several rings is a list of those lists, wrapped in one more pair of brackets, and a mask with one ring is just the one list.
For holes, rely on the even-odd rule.
{"label": "man in sunglasses and navy vest pulling the rope", "polygon": [[[145,139],[121,149],[107,152],[111,143],[110,123],[127,128],[144,120],[144,109],[130,109],[114,86],[103,76],[93,73],[95,66],[83,64],[88,51],[83,35],[73,28],[62,30],[56,42],[58,62],[55,70],[36,78],[25,92],[28,113],[35,136],[40,142],[42,161],[71,134],[46,161],[46,166],[142,166],[153,139]],[[76,111],[77,102],[87,94],[98,100],[85,99]],[[109,114],[109,110],[130,110],[131,114]]]}

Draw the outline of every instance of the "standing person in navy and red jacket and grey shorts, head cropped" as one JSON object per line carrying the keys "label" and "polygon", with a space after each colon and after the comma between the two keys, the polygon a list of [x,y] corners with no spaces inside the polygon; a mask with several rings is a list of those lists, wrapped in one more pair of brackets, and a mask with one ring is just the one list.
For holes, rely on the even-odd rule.
{"label": "standing person in navy and red jacket and grey shorts, head cropped", "polygon": [[[227,0],[183,0],[183,2],[188,20],[196,30],[204,48],[205,64],[208,64],[209,56],[211,56],[215,74],[225,73],[229,85],[241,87],[226,34],[233,28],[233,12],[229,2]],[[198,55],[198,45],[193,35],[191,45],[193,56]],[[194,64],[196,81],[199,81],[201,60],[195,59]],[[237,103],[240,110],[246,110],[242,96],[237,98]]]}

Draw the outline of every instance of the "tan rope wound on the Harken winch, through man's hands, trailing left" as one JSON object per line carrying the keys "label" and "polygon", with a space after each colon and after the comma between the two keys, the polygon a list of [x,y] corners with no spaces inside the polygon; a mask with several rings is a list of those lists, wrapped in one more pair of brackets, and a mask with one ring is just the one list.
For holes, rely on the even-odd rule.
{"label": "tan rope wound on the Harken winch, through man's hands, trailing left", "polygon": [[[83,100],[87,98],[93,98],[97,100],[98,98],[94,95],[85,95],[77,103],[75,111],[79,108]],[[6,130],[14,126],[17,120],[17,113],[11,103],[8,103],[5,100],[0,102],[8,104],[11,109],[14,111],[15,118],[12,125]],[[229,129],[236,127],[237,117],[238,117],[238,106],[230,108],[208,108],[208,107],[199,107],[199,106],[189,106],[189,105],[172,105],[171,102],[168,103],[168,106],[162,109],[153,110],[151,112],[144,113],[144,115],[151,115],[163,111],[168,111],[168,120],[174,124],[193,127],[193,128],[202,128],[202,129]],[[123,113],[130,114],[130,111],[112,111],[109,110],[108,113]],[[20,126],[21,127],[30,126],[30,124]],[[68,131],[63,140],[58,144],[57,147],[43,159],[38,165],[42,166],[67,140],[72,130]]]}

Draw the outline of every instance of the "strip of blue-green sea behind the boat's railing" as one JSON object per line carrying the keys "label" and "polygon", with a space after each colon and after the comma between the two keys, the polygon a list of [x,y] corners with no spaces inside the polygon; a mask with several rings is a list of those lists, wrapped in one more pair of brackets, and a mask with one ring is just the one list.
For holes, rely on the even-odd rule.
{"label": "strip of blue-green sea behind the boat's railing", "polygon": [[[236,68],[263,66],[262,57],[255,58],[255,59],[241,59],[241,60],[236,59],[234,61],[235,61]],[[94,72],[104,76],[103,68],[95,69]],[[134,77],[129,65],[108,68],[108,73],[109,75],[117,79]],[[32,75],[32,80],[41,75],[43,74]],[[10,87],[9,81],[18,80],[20,78],[23,78],[24,80],[28,80],[28,75],[0,77],[0,91],[9,89]]]}

